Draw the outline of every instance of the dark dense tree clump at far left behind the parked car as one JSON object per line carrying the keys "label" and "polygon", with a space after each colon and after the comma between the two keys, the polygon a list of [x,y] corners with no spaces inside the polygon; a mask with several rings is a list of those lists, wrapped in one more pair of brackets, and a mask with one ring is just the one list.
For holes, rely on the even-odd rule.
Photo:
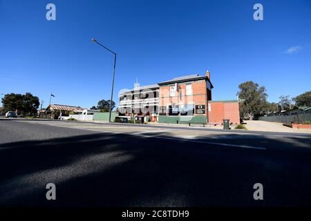
{"label": "dark dense tree clump at far left behind the parked car", "polygon": [[39,108],[39,98],[31,93],[25,95],[10,93],[2,98],[3,111],[17,111],[21,115],[35,115]]}

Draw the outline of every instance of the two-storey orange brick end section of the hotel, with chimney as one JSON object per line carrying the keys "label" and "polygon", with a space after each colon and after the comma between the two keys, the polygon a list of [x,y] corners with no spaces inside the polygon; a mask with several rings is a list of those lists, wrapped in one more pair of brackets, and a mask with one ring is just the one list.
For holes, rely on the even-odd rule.
{"label": "two-storey orange brick end section of the hotel, with chimney", "polygon": [[207,123],[207,102],[211,100],[209,72],[205,76],[189,75],[159,83],[160,123]]}

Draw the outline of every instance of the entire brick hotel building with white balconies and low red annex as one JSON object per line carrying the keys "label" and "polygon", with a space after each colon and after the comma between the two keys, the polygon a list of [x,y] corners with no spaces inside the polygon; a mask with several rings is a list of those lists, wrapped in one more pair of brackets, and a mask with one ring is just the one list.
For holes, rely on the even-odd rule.
{"label": "entire brick hotel building with white balconies and low red annex", "polygon": [[132,90],[120,93],[119,115],[169,124],[221,124],[229,117],[238,124],[238,102],[212,102],[212,88],[209,71],[205,76],[187,75],[149,86],[136,83]]}

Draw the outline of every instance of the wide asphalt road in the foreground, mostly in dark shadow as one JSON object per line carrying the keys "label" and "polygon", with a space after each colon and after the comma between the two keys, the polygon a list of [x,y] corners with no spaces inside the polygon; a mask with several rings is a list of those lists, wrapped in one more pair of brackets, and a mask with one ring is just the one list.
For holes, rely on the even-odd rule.
{"label": "wide asphalt road in the foreground, mostly in dark shadow", "polygon": [[1,120],[0,206],[310,206],[310,159],[310,135]]}

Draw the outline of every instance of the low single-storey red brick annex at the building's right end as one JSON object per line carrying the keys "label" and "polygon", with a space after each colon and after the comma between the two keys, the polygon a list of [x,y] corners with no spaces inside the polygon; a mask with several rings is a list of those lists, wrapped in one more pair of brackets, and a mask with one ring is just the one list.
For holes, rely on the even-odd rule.
{"label": "low single-storey red brick annex at the building's right end", "polygon": [[240,111],[238,102],[209,102],[208,121],[210,124],[222,124],[223,119],[229,119],[230,123],[240,124]]}

